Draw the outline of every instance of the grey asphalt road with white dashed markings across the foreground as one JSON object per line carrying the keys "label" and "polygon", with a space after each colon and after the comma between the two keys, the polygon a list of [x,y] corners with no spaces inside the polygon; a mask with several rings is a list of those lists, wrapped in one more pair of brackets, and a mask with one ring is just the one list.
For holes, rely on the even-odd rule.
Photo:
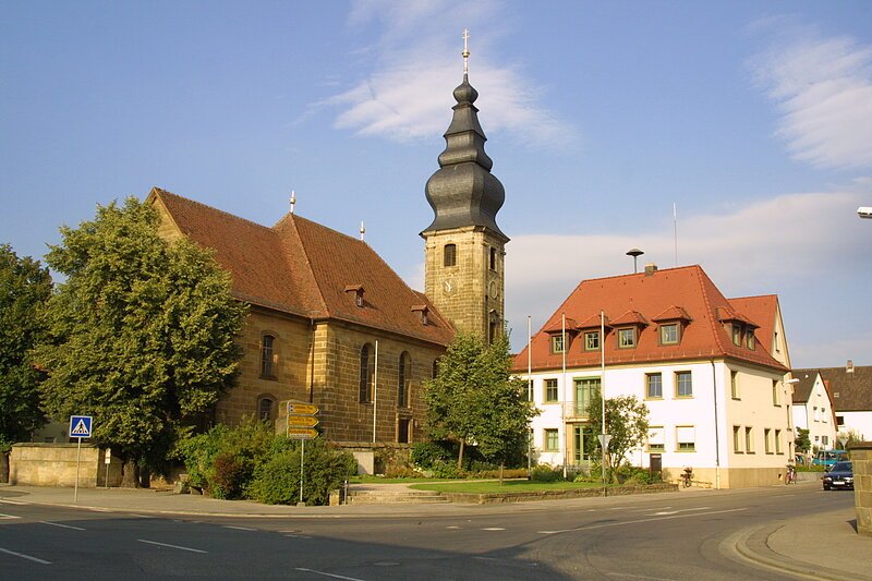
{"label": "grey asphalt road with white dashed markings across the foreground", "polygon": [[[724,493],[469,507],[426,517],[155,518],[0,503],[0,578],[792,579],[735,553],[735,535],[849,507],[850,493]],[[408,513],[409,507],[403,508]]]}

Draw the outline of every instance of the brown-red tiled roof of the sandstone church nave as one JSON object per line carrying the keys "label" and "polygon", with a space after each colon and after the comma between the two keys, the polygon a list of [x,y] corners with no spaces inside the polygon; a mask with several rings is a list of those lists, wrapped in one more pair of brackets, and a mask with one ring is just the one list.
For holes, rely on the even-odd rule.
{"label": "brown-red tiled roof of the sandstone church nave", "polygon": [[[234,295],[307,318],[334,318],[437,344],[455,336],[450,324],[365,242],[288,214],[268,228],[155,187],[149,199],[167,208],[179,230],[213,249],[231,273]],[[364,305],[355,293],[363,290]],[[413,306],[427,305],[427,324]]]}

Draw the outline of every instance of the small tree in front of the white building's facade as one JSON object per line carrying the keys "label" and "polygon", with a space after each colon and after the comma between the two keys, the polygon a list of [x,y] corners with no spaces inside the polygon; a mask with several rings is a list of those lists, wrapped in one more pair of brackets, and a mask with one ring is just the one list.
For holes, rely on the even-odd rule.
{"label": "small tree in front of the white building's facade", "polygon": [[[591,399],[588,417],[594,434],[603,433],[603,402],[600,397]],[[620,396],[606,400],[606,434],[611,436],[606,449],[606,464],[620,468],[627,461],[627,452],[642,444],[647,437],[647,407],[635,396]],[[598,439],[585,439],[589,453],[602,458]]]}

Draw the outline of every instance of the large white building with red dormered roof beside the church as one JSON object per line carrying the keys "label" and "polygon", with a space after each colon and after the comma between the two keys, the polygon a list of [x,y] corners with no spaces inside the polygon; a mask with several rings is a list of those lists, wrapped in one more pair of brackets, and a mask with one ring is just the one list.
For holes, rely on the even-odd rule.
{"label": "large white building with red dormered roof beside the church", "polygon": [[667,480],[692,467],[715,487],[774,484],[794,456],[778,300],[727,300],[699,266],[582,281],[513,371],[542,412],[531,426],[540,463],[590,464],[586,403],[603,385],[606,398],[645,402],[647,441],[628,459],[659,463]]}

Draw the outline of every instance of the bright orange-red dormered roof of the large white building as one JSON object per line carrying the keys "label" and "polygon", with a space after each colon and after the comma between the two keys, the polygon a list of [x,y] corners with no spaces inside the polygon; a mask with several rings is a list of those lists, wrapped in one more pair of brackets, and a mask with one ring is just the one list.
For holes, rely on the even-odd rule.
{"label": "bright orange-red dormered roof of the large white building", "polygon": [[[722,315],[726,312],[731,320],[747,320],[752,325],[750,315],[739,311],[720,293],[705,271],[698,265],[656,270],[653,274],[634,274],[582,281],[564,301],[557,311],[545,322],[544,329],[559,326],[560,316],[584,320],[585,325],[593,316],[598,320],[603,312],[610,320],[611,329],[606,328],[605,348],[606,365],[650,364],[671,361],[689,361],[700,359],[734,359],[750,364],[761,365],[787,372],[767,351],[766,346],[755,344],[749,349],[747,344],[736,346],[725,329]],[[669,313],[681,314],[681,317],[665,318]],[[680,342],[678,344],[661,344],[659,325],[647,323],[654,319],[682,320]],[[617,330],[621,326],[638,326],[637,346],[619,349]],[[545,332],[537,332],[531,341],[531,359],[534,370],[556,370],[562,365],[562,353],[552,353],[550,342]],[[526,370],[528,348],[514,359],[513,370]],[[584,351],[583,346],[576,342],[569,346],[566,353],[568,367],[586,367],[600,365],[600,351]]]}

